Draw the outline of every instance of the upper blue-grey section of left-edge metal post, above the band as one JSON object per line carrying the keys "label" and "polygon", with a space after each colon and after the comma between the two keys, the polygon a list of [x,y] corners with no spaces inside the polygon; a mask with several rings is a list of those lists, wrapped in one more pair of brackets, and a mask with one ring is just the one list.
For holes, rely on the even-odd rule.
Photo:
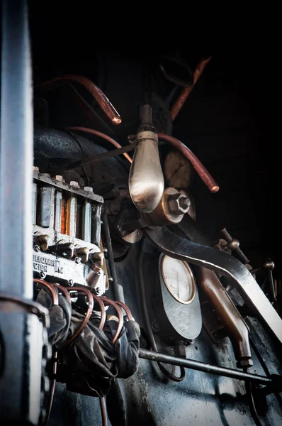
{"label": "upper blue-grey section of left-edge metal post, above the band", "polygon": [[33,109],[26,3],[2,1],[0,290],[31,299]]}

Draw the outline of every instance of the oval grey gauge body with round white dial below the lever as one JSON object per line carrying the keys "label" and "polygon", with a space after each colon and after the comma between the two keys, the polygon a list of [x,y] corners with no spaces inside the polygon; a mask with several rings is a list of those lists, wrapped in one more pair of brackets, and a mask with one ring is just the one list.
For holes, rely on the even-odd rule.
{"label": "oval grey gauge body with round white dial below the lever", "polygon": [[156,257],[150,258],[144,275],[154,332],[169,344],[188,344],[196,339],[201,332],[202,316],[191,267],[158,252]]}

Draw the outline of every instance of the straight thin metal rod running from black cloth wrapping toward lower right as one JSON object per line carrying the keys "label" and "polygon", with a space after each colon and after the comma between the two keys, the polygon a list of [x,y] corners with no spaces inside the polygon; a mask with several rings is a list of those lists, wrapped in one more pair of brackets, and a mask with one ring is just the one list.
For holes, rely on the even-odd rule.
{"label": "straight thin metal rod running from black cloth wrapping toward lower right", "polygon": [[272,379],[266,376],[259,376],[252,373],[243,373],[242,371],[234,370],[233,368],[213,366],[202,361],[177,358],[176,356],[160,354],[159,352],[147,351],[147,349],[140,349],[139,357],[142,359],[150,359],[151,361],[164,362],[165,364],[171,364],[174,366],[191,368],[192,370],[203,371],[204,373],[215,374],[217,376],[225,376],[244,381],[249,380],[256,383],[261,383],[263,385],[272,383]]}

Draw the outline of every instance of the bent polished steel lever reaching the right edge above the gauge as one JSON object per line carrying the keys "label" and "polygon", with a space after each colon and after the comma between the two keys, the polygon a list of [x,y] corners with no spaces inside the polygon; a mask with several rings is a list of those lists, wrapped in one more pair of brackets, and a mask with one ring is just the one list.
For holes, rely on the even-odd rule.
{"label": "bent polished steel lever reaching the right edge above the gauge", "polygon": [[193,243],[173,234],[167,228],[145,229],[145,233],[167,255],[203,266],[232,279],[245,302],[259,314],[282,343],[282,319],[247,268],[236,258],[208,246]]}

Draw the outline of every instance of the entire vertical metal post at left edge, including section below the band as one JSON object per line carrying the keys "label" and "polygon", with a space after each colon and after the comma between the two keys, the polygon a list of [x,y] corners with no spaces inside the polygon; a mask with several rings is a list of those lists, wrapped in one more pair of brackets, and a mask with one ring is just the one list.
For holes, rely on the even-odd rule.
{"label": "entire vertical metal post at left edge, including section below the band", "polygon": [[[0,293],[33,297],[33,109],[28,6],[2,1]],[[0,419],[37,425],[43,326],[25,303],[0,300]]]}

